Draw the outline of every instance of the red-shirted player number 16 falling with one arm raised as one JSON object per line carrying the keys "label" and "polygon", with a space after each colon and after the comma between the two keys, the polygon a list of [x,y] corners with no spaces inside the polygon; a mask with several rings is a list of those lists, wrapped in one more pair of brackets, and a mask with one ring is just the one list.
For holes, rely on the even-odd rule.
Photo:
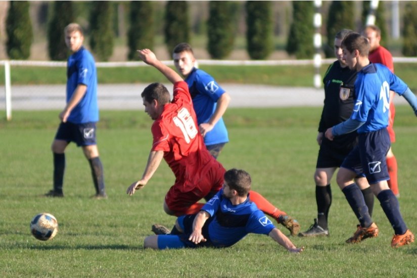
{"label": "red-shirted player number 16 falling with one arm raised", "polygon": [[[175,175],[175,184],[165,196],[164,211],[176,216],[197,213],[204,205],[199,201],[210,199],[222,188],[225,169],[204,145],[187,83],[159,61],[151,50],[138,52],[145,63],[158,69],[174,84],[174,93],[170,101],[167,88],[161,83],[152,83],[141,94],[145,112],[154,120],[151,128],[153,145],[142,179],[132,183],[126,193],[131,196],[142,189],[164,158]],[[298,234],[297,220],[274,207],[259,193],[251,191],[250,200],[292,235]]]}

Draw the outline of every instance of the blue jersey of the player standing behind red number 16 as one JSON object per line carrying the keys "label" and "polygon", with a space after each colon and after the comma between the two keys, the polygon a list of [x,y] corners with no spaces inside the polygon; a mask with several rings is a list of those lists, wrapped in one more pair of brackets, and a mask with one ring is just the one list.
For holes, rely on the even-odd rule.
{"label": "blue jersey of the player standing behind red number 16", "polygon": [[[207,123],[216,110],[217,100],[225,92],[205,71],[194,68],[185,80],[193,99],[198,125]],[[205,145],[226,143],[229,141],[223,118],[204,136]]]}

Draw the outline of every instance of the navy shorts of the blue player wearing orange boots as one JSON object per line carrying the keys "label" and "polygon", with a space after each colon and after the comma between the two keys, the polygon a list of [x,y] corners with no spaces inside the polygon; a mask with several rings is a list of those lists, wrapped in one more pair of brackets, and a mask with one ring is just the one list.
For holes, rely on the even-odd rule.
{"label": "navy shorts of the blue player wearing orange boots", "polygon": [[386,155],[391,146],[387,129],[359,134],[358,145],[348,154],[341,167],[365,174],[369,184],[390,179]]}

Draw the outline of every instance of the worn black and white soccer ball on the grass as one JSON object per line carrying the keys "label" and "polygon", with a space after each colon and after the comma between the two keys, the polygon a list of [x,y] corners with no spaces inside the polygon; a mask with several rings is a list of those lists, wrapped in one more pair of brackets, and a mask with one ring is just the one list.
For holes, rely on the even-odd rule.
{"label": "worn black and white soccer ball on the grass", "polygon": [[50,213],[39,213],[30,222],[30,232],[38,240],[53,239],[58,233],[58,221]]}

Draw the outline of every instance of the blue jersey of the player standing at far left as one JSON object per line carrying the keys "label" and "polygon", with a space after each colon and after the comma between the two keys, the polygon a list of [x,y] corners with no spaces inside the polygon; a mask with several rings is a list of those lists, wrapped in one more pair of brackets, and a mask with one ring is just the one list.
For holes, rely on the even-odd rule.
{"label": "blue jersey of the player standing at far left", "polygon": [[94,58],[84,47],[73,53],[67,62],[67,102],[78,84],[87,86],[87,91],[72,109],[68,122],[84,124],[99,121],[97,104],[97,72]]}

